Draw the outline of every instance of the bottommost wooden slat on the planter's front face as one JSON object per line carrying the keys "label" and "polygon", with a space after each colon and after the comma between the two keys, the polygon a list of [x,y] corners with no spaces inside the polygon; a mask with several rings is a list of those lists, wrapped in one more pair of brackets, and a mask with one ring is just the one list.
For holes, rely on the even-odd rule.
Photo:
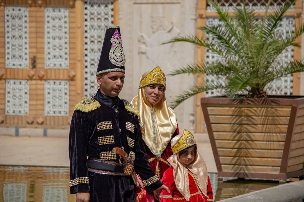
{"label": "bottommost wooden slat on the planter's front face", "polygon": [[222,165],[224,172],[257,172],[257,173],[279,173],[280,167],[275,166],[253,166],[253,165]]}

